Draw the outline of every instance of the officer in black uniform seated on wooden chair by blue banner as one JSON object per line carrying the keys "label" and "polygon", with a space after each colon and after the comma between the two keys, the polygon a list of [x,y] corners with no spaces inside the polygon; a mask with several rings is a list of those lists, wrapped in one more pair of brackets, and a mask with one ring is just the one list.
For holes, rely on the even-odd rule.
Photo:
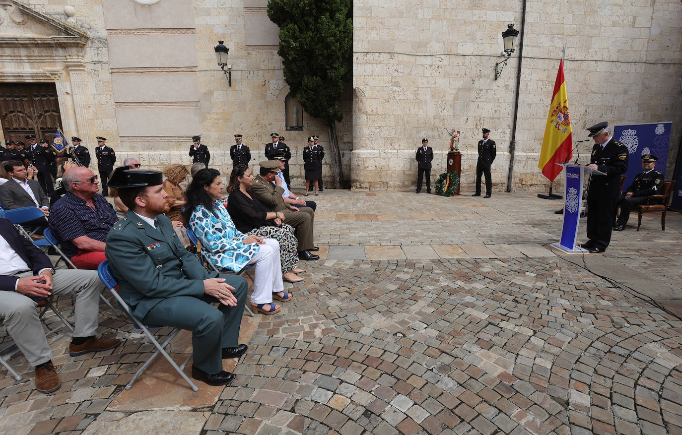
{"label": "officer in black uniform seated on wooden chair by blue banner", "polygon": [[[630,218],[632,206],[647,202],[649,195],[661,193],[663,188],[664,175],[654,168],[658,162],[658,157],[653,154],[642,154],[643,171],[635,175],[635,180],[625,189],[625,193],[619,196],[616,204],[621,206],[621,214],[616,221],[616,231],[625,229],[627,220]],[[657,200],[651,200],[650,204],[658,204]]]}

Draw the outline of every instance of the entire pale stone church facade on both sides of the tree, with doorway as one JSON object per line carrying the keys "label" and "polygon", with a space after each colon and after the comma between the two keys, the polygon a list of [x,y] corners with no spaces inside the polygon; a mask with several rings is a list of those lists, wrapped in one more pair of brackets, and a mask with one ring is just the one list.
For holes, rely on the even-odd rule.
{"label": "entire pale stone church facade on both sides of the tree, with doorway", "polygon": [[[682,4],[643,3],[543,0],[527,3],[523,15],[522,0],[354,2],[353,83],[337,126],[346,185],[413,189],[423,137],[434,147],[437,177],[449,145],[443,127],[454,127],[462,132],[462,189],[473,190],[486,127],[497,142],[493,190],[503,191],[516,118],[509,188],[546,190],[537,160],[564,44],[574,140],[597,121],[672,121],[672,177],[682,136]],[[300,108],[292,118],[296,102],[266,7],[266,0],[0,0],[0,139],[59,126],[91,150],[95,136],[108,138],[119,162],[132,156],[162,168],[189,164],[191,136],[201,134],[211,166],[228,175],[234,134],[243,134],[256,165],[278,132],[301,185],[306,138],[318,134],[328,149],[327,129]],[[517,44],[494,80],[508,23],[524,29],[522,59]],[[230,48],[231,86],[213,52],[219,40]],[[579,147],[584,160],[591,145]]]}

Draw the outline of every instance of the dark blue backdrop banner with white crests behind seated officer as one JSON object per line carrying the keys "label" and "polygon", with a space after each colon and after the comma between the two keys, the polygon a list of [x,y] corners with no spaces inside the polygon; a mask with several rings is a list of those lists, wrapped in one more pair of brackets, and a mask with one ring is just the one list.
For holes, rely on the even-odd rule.
{"label": "dark blue backdrop banner with white crests behind seated officer", "polygon": [[627,147],[629,162],[623,190],[632,184],[635,175],[642,172],[642,154],[653,154],[658,157],[656,170],[666,173],[668,163],[668,147],[670,147],[670,130],[672,122],[649,124],[616,125],[613,127],[613,138]]}

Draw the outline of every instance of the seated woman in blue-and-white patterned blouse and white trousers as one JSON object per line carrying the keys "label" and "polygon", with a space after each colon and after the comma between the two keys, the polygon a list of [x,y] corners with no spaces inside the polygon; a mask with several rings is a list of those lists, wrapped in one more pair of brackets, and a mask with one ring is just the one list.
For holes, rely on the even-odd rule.
{"label": "seated woman in blue-and-white patterned blouse and white trousers", "polygon": [[280,305],[272,299],[291,301],[284,291],[280,263],[280,245],[275,239],[263,239],[241,233],[220,201],[223,185],[220,172],[202,169],[196,172],[187,188],[185,215],[201,241],[207,258],[219,269],[238,272],[246,265],[256,265],[251,305],[263,314],[275,314]]}

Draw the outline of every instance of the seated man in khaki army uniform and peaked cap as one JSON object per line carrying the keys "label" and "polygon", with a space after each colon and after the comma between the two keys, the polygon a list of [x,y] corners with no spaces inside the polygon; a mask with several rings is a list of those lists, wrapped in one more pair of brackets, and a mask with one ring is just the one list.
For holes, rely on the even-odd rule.
{"label": "seated man in khaki army uniform and peaked cap", "polygon": [[298,254],[301,260],[319,260],[319,256],[310,253],[310,251],[320,249],[312,242],[314,211],[310,207],[295,207],[284,203],[284,198],[282,198],[284,188],[273,184],[273,181],[279,180],[277,177],[280,172],[279,166],[280,163],[276,160],[261,162],[261,173],[254,179],[249,192],[256,196],[269,211],[284,213],[284,221],[296,228],[296,238],[299,242]]}

